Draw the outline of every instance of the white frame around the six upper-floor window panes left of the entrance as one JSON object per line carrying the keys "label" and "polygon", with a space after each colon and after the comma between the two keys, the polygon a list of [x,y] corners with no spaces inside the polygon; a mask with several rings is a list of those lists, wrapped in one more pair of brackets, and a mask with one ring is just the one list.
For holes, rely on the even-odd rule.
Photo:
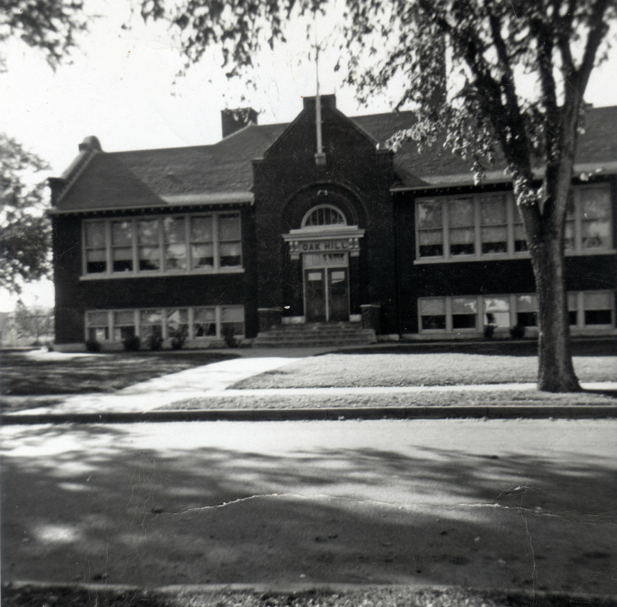
{"label": "white frame around the six upper-floor window panes left of the entrance", "polygon": [[[220,247],[219,247],[219,216],[236,215],[239,221],[239,247],[240,247],[240,263],[234,266],[223,266],[220,262]],[[212,267],[203,267],[193,269],[193,259],[191,255],[191,219],[193,217],[211,216],[213,218],[213,234],[212,234],[212,246],[213,246],[213,265]],[[186,269],[165,269],[165,238],[163,220],[166,217],[173,217],[174,219],[184,219],[184,247],[186,247]],[[138,221],[152,221],[156,220],[158,225],[158,258],[159,269],[154,270],[140,270],[139,269],[139,252],[138,252],[138,236],[137,236],[137,224]],[[132,226],[132,271],[113,271],[113,246],[112,246],[112,222],[114,221],[130,221]],[[106,251],[106,271],[88,273],[88,260],[86,249],[86,225],[90,223],[103,223],[105,234],[105,251]],[[223,242],[235,242],[235,241],[223,241]],[[228,273],[242,273],[243,267],[243,240],[242,240],[242,218],[241,213],[236,210],[228,211],[215,211],[215,212],[195,212],[195,213],[174,213],[169,215],[145,215],[145,216],[132,216],[121,217],[112,216],[108,218],[98,219],[84,219],[82,221],[82,276],[80,280],[103,280],[103,279],[117,279],[117,278],[139,278],[139,277],[152,277],[152,276],[173,276],[173,275],[187,275],[187,274],[228,274]]]}

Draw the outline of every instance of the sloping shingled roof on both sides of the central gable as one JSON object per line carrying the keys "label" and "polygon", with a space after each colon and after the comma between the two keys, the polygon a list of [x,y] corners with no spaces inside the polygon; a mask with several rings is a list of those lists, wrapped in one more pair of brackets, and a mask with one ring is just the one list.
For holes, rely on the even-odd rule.
{"label": "sloping shingled roof on both sides of the central gable", "polygon": [[[355,116],[350,120],[383,145],[396,132],[413,126],[415,118],[413,112],[398,112]],[[615,125],[617,106],[588,111],[585,131],[579,136],[577,170],[584,166],[585,171],[594,173],[617,172]],[[88,210],[136,208],[142,203],[152,207],[250,202],[252,160],[262,158],[288,126],[289,123],[250,123],[213,145],[108,153],[82,150],[62,175],[60,212],[83,208],[79,200],[84,198],[74,190],[79,189],[79,177],[86,174],[90,188],[87,199],[91,201]],[[393,190],[473,184],[470,164],[444,149],[440,142],[422,152],[415,142],[404,142],[394,154],[394,170],[397,179]],[[486,181],[508,181],[503,162],[487,171]]]}

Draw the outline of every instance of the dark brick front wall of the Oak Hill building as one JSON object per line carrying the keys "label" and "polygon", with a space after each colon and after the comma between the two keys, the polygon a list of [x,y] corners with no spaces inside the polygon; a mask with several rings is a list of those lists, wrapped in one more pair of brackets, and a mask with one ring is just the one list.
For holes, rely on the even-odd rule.
{"label": "dark brick front wall of the Oak Hill building", "polygon": [[[285,129],[265,132],[273,132],[276,136],[272,137],[274,143],[261,148],[263,157],[252,161],[252,203],[227,201],[217,205],[211,202],[174,206],[169,210],[165,208],[165,188],[176,187],[178,179],[184,179],[179,169],[164,176],[165,179],[160,175],[151,176],[152,184],[160,181],[163,190],[154,193],[150,190],[152,184],[146,186],[131,171],[118,168],[123,156],[98,150],[98,164],[88,166],[86,157],[80,160],[86,170],[69,188],[62,203],[58,203],[59,212],[53,214],[58,344],[84,340],[86,310],[242,305],[247,338],[256,336],[260,324],[264,328],[292,317],[298,321],[305,313],[306,269],[303,269],[302,257],[292,254],[286,238],[290,231],[302,227],[302,220],[311,209],[324,204],[339,209],[346,226],[356,226],[358,232],[363,231],[359,249],[346,258],[349,314],[359,320],[370,310],[372,324],[378,325],[383,334],[417,334],[418,298],[421,297],[533,293],[535,290],[529,258],[418,263],[416,198],[479,190],[472,186],[430,191],[418,190],[415,186],[406,191],[391,190],[392,184],[400,178],[395,171],[393,154],[380,149],[376,140],[357,122],[343,116],[336,109],[333,96],[322,97],[325,164],[315,162],[314,98],[304,100],[303,111]],[[230,136],[225,145],[230,147],[234,137],[239,136],[242,134]],[[246,136],[256,137],[252,131],[247,131]],[[258,143],[261,145],[261,140]],[[202,151],[189,151],[191,162],[195,162],[195,169],[191,170],[199,171]],[[164,150],[156,153],[160,158],[165,156]],[[141,158],[135,162],[134,171],[142,166]],[[145,160],[143,166],[147,166]],[[121,171],[121,176],[114,181],[108,176],[109,171]],[[90,180],[95,184],[88,184]],[[59,189],[66,184],[62,179],[54,179],[52,186],[56,203]],[[504,184],[488,185],[483,191],[504,188],[507,188]],[[121,193],[126,190],[126,201],[114,208],[118,190]],[[612,203],[613,242],[617,243],[615,179],[612,180]],[[131,204],[134,204],[132,208]],[[148,208],[149,204],[152,207]],[[93,210],[87,212],[89,207]],[[239,210],[241,213],[243,271],[100,280],[82,278],[82,221],[85,217],[152,216],[204,210]],[[566,288],[570,291],[613,290],[616,277],[617,257],[612,252],[566,257]],[[375,307],[363,308],[367,305]]]}

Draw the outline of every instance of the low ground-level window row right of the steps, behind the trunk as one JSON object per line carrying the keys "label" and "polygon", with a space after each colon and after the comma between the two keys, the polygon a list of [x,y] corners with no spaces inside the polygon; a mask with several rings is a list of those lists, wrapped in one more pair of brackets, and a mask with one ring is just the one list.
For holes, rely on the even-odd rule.
{"label": "low ground-level window row right of the steps, behind the trunk", "polygon": [[[612,291],[568,293],[571,327],[615,326]],[[485,325],[508,328],[537,325],[537,297],[528,295],[473,295],[422,297],[418,300],[420,332],[479,331]]]}

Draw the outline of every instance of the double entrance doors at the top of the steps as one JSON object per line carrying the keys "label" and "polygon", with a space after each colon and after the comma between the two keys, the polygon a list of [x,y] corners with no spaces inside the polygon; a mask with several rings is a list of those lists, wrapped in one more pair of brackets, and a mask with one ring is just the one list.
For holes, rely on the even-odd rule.
{"label": "double entrance doors at the top of the steps", "polygon": [[349,280],[346,268],[304,271],[306,322],[349,320]]}

